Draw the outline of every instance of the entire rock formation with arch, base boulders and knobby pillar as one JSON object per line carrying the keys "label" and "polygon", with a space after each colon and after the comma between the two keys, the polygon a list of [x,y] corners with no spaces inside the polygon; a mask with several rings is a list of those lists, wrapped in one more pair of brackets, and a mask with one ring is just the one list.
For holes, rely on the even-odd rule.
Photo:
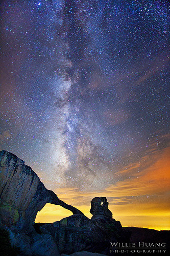
{"label": "entire rock formation with arch, base boulders and knobby pillar", "polygon": [[[37,212],[46,203],[61,205],[74,215],[42,224],[36,232]],[[90,212],[91,220],[46,189],[23,160],[0,152],[0,228],[8,230],[12,245],[19,247],[21,255],[59,256],[76,251],[109,255],[110,241],[124,239],[122,225],[112,218],[104,197],[91,200]]]}

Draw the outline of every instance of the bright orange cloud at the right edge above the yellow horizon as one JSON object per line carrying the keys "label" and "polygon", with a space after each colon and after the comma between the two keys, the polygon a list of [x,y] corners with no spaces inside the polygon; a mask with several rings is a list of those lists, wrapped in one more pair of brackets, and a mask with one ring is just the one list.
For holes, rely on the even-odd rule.
{"label": "bright orange cloud at the right edge above the yellow horizon", "polygon": [[[136,167],[129,166],[127,172],[132,172],[134,177],[132,179],[125,179],[124,181],[117,182],[116,185],[108,187],[108,193],[119,196],[137,196],[145,194],[155,194],[166,192],[170,188],[170,147],[162,151],[157,151],[154,154],[154,162],[145,169],[142,169],[139,176],[137,176]],[[120,170],[120,174],[125,175],[126,170]]]}

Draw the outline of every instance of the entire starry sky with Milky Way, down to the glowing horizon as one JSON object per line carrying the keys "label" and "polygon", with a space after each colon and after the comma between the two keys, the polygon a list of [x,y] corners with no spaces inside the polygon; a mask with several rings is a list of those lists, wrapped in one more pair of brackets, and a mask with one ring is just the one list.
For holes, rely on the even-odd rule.
{"label": "entire starry sky with Milky Way, down to the glowing horizon", "polygon": [[168,22],[163,0],[1,1],[0,150],[89,218],[106,196],[123,226],[169,229]]}

